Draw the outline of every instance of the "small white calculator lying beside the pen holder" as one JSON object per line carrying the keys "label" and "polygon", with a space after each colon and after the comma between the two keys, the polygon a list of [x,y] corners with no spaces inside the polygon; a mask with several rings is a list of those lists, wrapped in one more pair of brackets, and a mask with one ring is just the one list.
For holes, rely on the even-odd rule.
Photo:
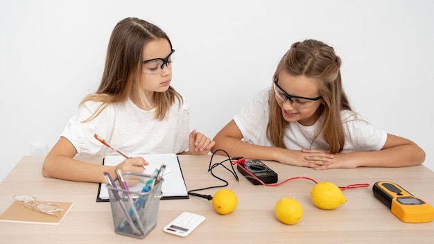
{"label": "small white calculator lying beside the pen holder", "polygon": [[163,230],[169,234],[184,237],[193,232],[193,229],[196,229],[203,220],[205,220],[205,216],[183,212],[172,220],[171,223],[168,223]]}

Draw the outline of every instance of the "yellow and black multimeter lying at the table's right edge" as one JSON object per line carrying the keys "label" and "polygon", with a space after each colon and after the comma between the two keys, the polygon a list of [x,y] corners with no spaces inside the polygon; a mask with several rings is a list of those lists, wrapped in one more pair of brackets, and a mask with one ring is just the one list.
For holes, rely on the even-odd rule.
{"label": "yellow and black multimeter lying at the table's right edge", "polygon": [[372,192],[402,222],[426,223],[434,219],[434,208],[428,202],[415,198],[398,184],[376,182]]}

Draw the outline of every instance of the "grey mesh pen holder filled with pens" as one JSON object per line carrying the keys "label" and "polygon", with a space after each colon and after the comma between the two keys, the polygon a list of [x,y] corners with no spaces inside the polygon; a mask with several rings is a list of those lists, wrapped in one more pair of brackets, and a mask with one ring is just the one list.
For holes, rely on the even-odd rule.
{"label": "grey mesh pen holder filled with pens", "polygon": [[[162,197],[161,179],[146,191],[150,175],[125,172],[122,174],[125,179],[134,177],[139,183],[130,186],[128,190],[121,188],[119,179],[114,179],[116,188],[107,184],[110,196],[110,206],[114,232],[116,234],[134,238],[144,238],[157,225],[159,200]],[[144,189],[145,188],[145,189]]]}

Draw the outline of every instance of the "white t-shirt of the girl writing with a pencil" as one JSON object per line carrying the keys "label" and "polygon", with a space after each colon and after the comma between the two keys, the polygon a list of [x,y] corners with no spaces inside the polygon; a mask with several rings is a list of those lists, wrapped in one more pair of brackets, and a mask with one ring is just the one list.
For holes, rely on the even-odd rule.
{"label": "white t-shirt of the girl writing with a pencil", "polygon": [[94,134],[127,155],[182,153],[189,147],[190,110],[185,101],[181,105],[175,101],[162,121],[154,119],[155,109],[141,110],[128,98],[108,105],[95,119],[82,123],[101,104],[87,101],[69,120],[61,137],[71,141],[78,154],[117,154],[96,140]]}

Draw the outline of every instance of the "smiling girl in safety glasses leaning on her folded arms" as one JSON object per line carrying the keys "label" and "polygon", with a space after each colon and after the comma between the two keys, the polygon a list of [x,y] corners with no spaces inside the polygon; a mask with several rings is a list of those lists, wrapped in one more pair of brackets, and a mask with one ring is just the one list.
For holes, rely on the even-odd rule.
{"label": "smiling girl in safety glasses leaning on her folded arms", "polygon": [[216,134],[211,151],[317,170],[422,164],[413,141],[374,128],[351,110],[341,60],[317,40],[294,43],[263,89]]}

